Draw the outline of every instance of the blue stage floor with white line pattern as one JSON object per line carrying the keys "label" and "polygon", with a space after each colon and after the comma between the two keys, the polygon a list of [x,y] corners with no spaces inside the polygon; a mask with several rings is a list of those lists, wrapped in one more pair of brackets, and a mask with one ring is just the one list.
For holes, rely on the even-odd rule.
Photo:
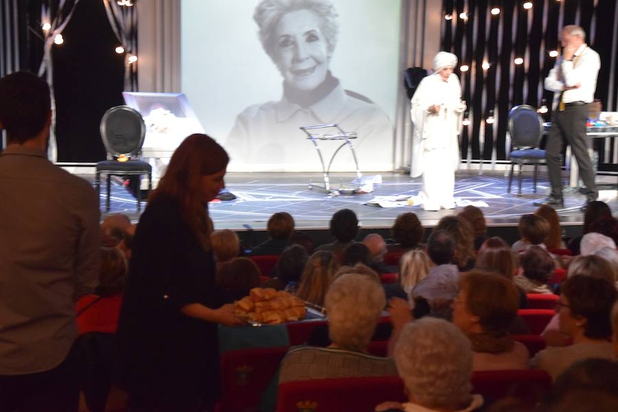
{"label": "blue stage floor with white line pattern", "polygon": [[[369,176],[369,174],[364,177]],[[422,187],[420,178],[407,174],[382,173],[382,182],[375,185],[374,192],[348,196],[330,196],[319,190],[308,190],[308,183],[321,182],[319,173],[230,173],[226,176],[227,189],[237,196],[234,201],[210,203],[209,212],[216,229],[246,230],[249,225],[255,230],[264,230],[268,218],[276,211],[287,211],[296,222],[297,229],[328,229],[328,223],[335,211],[343,208],[356,212],[365,228],[391,227],[399,214],[412,211],[425,227],[433,227],[437,221],[452,210],[424,211],[419,205],[382,208],[365,205],[374,196],[416,195]],[[331,176],[333,187],[345,184],[355,175],[338,173]],[[603,179],[599,176],[599,180]],[[615,178],[613,178],[615,180]],[[481,207],[488,226],[516,226],[521,215],[536,209],[532,204],[548,192],[549,183],[543,175],[538,181],[538,193],[532,192],[531,176],[523,181],[523,194],[507,193],[508,179],[504,172],[464,171],[457,172],[455,196],[461,201],[483,201],[488,207]],[[104,209],[105,188],[101,188],[101,207]],[[516,192],[514,179],[512,192]],[[580,194],[565,195],[565,208],[558,210],[563,225],[581,225],[583,216],[580,207],[584,204]],[[618,211],[616,198],[599,198],[606,201],[613,211]],[[142,210],[144,210],[142,208]],[[111,210],[109,213],[124,213],[137,222],[135,198],[121,185],[113,185]],[[106,214],[102,216],[104,218]]]}

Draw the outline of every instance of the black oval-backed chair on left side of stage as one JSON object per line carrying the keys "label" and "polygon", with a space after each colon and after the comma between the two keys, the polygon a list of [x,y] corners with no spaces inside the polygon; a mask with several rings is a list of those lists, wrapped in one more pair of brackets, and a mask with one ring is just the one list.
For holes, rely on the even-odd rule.
{"label": "black oval-backed chair on left side of stage", "polygon": [[[152,166],[138,160],[141,145],[144,144],[146,125],[141,115],[128,106],[115,106],[105,112],[101,119],[101,139],[108,155],[113,160],[97,163],[95,185],[97,196],[101,193],[101,174],[107,175],[107,200],[105,211],[109,211],[111,176],[148,174],[148,192],[152,189]],[[131,159],[135,157],[136,159]],[[141,190],[136,191],[137,211],[141,210]]]}

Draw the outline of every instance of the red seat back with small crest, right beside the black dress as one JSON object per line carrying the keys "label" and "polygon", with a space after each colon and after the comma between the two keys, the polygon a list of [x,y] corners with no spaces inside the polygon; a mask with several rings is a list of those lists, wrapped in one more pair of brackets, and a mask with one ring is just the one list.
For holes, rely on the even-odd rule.
{"label": "red seat back with small crest, right beside the black dress", "polygon": [[234,350],[221,354],[220,412],[255,411],[288,347]]}

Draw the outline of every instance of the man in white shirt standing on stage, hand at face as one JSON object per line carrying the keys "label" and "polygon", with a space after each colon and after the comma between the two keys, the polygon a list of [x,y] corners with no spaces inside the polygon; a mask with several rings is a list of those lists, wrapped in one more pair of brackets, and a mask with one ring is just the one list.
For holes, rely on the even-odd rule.
{"label": "man in white shirt standing on stage, hand at face", "polygon": [[[560,93],[560,100],[553,113],[545,147],[551,194],[549,198],[535,202],[536,206],[564,207],[560,180],[560,152],[563,138],[571,145],[573,155],[580,166],[580,176],[586,185],[586,205],[597,200],[599,194],[595,185],[595,172],[588,155],[586,119],[588,103],[594,100],[601,60],[599,54],[586,45],[585,40],[586,32],[582,27],[564,26],[560,33],[562,57],[556,60],[556,65],[545,79],[545,89]],[[582,207],[582,210],[585,207]]]}

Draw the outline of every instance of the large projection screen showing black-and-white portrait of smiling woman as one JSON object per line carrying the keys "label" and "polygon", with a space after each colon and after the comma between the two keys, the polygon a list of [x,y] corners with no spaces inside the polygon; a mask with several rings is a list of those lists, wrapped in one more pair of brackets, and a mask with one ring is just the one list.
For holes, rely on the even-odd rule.
{"label": "large projection screen showing black-and-white portrait of smiling woman", "polygon": [[[183,0],[182,92],[229,171],[321,171],[299,127],[330,123],[361,170],[392,170],[399,26],[400,0]],[[347,148],[332,170],[354,170]]]}

